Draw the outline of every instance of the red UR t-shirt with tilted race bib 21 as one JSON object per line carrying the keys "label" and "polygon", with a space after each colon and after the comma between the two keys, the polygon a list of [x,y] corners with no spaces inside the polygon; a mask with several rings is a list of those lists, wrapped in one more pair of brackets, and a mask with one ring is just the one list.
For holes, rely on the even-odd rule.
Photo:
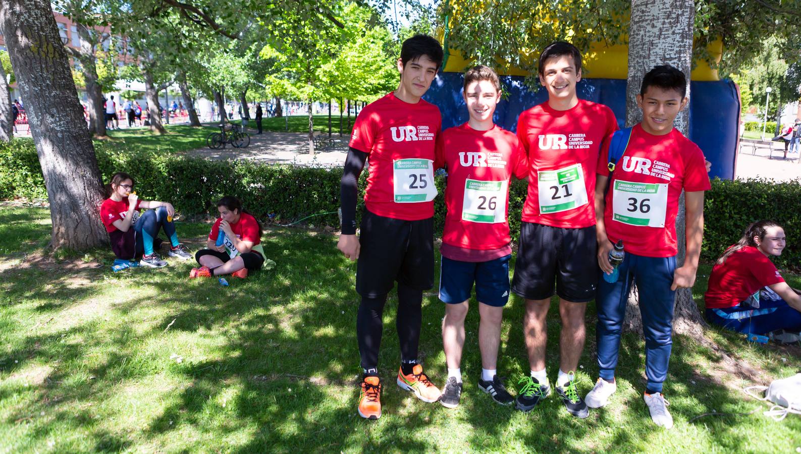
{"label": "red UR t-shirt with tilted race bib 21", "polygon": [[523,221],[594,226],[595,163],[602,142],[614,131],[618,122],[612,110],[583,99],[570,110],[553,110],[547,101],[525,110],[517,119],[517,137],[529,160]]}

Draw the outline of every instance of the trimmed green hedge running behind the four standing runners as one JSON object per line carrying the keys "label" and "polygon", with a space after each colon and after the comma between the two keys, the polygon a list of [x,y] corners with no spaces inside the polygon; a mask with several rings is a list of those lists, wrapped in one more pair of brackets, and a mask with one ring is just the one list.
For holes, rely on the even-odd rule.
{"label": "trimmed green hedge running behind the four standing runners", "polygon": [[[223,195],[236,195],[249,211],[267,223],[291,223],[309,215],[332,212],[305,222],[339,225],[336,215],[342,176],[339,168],[187,158],[152,151],[123,152],[106,144],[95,150],[105,182],[117,171],[130,173],[143,199],[167,200],[184,216],[215,215],[216,200]],[[361,189],[364,188],[364,174],[360,179]],[[440,194],[444,194],[445,179],[437,176],[436,184]],[[525,182],[515,181],[510,185],[509,224],[513,238],[520,231],[525,195]],[[15,139],[11,144],[0,144],[0,199],[46,199],[38,157],[30,140]],[[779,267],[798,268],[801,264],[799,208],[801,183],[797,181],[715,179],[704,203],[706,231],[702,259],[716,259],[743,235],[749,223],[774,219],[787,232],[787,248],[775,262]],[[435,228],[441,231],[445,219],[442,197],[437,197],[435,210]]]}

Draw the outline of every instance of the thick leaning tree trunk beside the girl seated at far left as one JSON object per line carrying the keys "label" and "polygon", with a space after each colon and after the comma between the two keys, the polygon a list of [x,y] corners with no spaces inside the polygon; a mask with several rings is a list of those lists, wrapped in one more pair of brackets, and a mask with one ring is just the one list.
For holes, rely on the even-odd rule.
{"label": "thick leaning tree trunk beside the girl seated at far left", "polygon": [[42,167],[53,222],[50,245],[83,250],[107,244],[95,147],[50,2],[0,2],[0,32]]}

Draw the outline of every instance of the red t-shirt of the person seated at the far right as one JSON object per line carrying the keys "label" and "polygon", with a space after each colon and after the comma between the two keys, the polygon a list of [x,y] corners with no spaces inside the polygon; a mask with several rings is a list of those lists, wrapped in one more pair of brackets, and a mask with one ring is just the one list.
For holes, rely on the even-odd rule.
{"label": "red t-shirt of the person seated at the far right", "polygon": [[784,282],[779,270],[756,247],[746,246],[712,267],[704,294],[707,309],[735,307],[762,287]]}

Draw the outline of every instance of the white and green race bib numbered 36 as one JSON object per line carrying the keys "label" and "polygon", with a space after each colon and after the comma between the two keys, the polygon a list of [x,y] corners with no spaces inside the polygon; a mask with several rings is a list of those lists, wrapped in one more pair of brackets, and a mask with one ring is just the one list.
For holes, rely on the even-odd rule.
{"label": "white and green race bib numbered 36", "polygon": [[667,183],[615,180],[612,219],[632,226],[665,227]]}

